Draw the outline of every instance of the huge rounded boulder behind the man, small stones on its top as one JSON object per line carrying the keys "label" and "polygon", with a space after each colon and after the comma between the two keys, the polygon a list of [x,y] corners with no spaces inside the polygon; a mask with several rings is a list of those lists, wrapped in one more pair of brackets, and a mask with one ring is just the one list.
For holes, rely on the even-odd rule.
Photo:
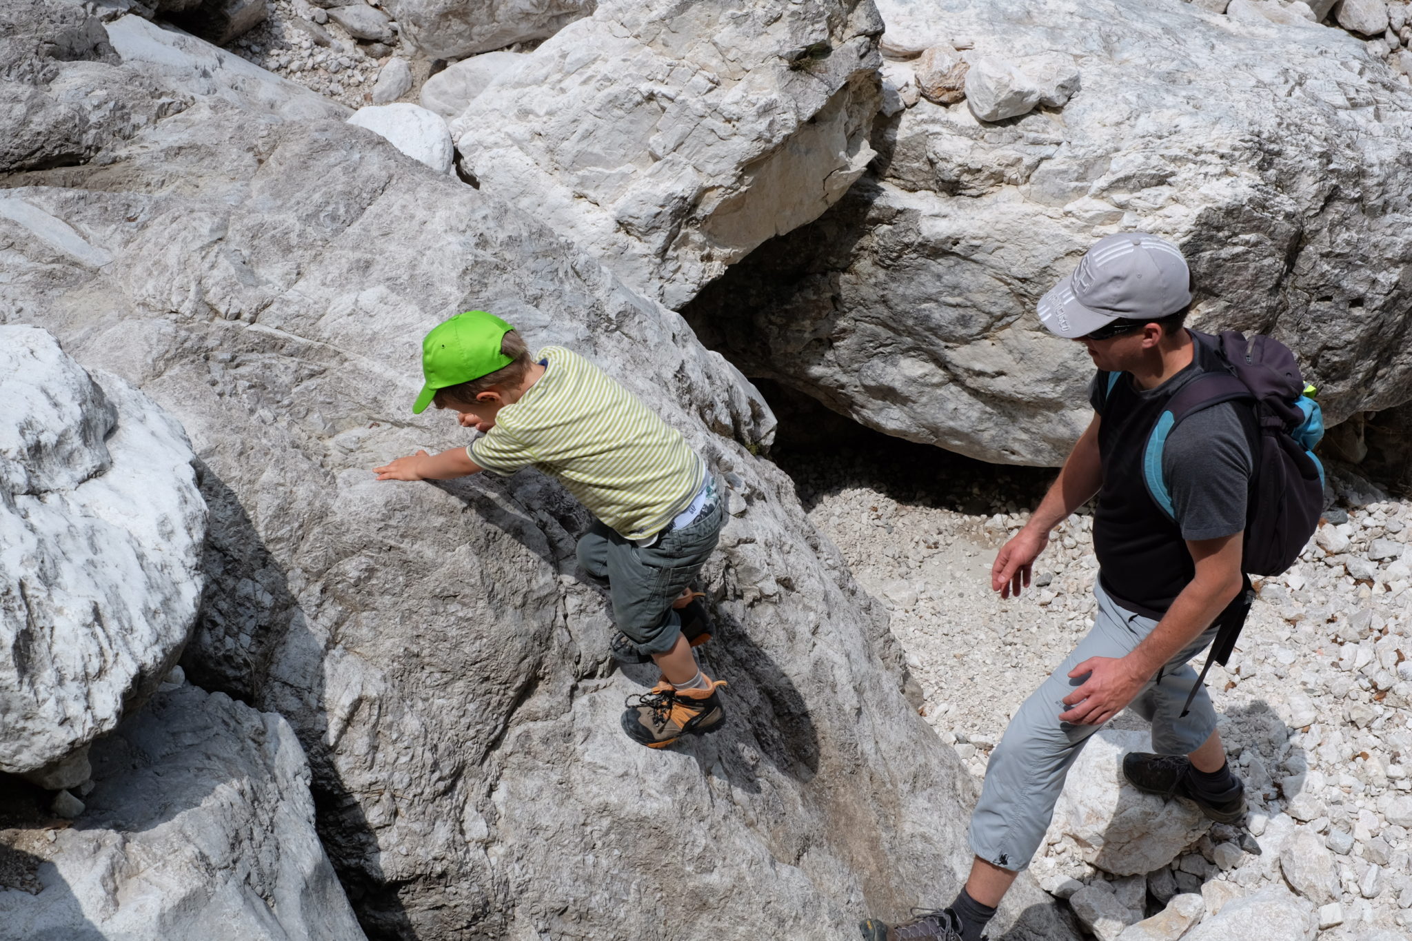
{"label": "huge rounded boulder behind the man, small stones on its top", "polygon": [[899,44],[964,37],[971,61],[1063,51],[1083,89],[995,124],[925,99],[881,121],[870,178],[685,309],[748,375],[890,435],[1058,464],[1093,367],[1035,302],[1142,229],[1192,262],[1195,324],[1292,346],[1332,422],[1412,398],[1412,92],[1363,42],[1142,0],[878,8]]}

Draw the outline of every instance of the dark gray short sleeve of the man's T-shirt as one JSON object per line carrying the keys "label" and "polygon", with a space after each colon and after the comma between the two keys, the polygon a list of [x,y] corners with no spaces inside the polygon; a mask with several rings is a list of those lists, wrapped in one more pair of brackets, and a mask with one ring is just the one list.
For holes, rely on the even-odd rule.
{"label": "dark gray short sleeve of the man's T-shirt", "polygon": [[[1200,375],[1196,361],[1155,389],[1132,391],[1141,399],[1169,396]],[[1106,372],[1089,387],[1093,409],[1103,413]],[[1118,382],[1131,382],[1124,372]],[[1172,429],[1162,446],[1162,474],[1172,495],[1172,509],[1182,539],[1217,539],[1245,529],[1245,504],[1255,461],[1245,422],[1248,406],[1221,402],[1189,415]]]}

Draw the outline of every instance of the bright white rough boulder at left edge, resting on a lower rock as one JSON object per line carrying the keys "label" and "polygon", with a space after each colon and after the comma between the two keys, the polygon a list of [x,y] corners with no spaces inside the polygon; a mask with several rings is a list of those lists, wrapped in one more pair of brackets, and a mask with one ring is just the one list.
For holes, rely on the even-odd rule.
{"label": "bright white rough boulder at left edge, resting on a lower rock", "polygon": [[[0,199],[11,229],[30,219],[13,203]],[[31,212],[45,226],[28,230],[35,251],[89,269]],[[0,772],[72,787],[88,745],[186,642],[206,506],[181,426],[123,380],[95,381],[44,330],[0,326]]]}

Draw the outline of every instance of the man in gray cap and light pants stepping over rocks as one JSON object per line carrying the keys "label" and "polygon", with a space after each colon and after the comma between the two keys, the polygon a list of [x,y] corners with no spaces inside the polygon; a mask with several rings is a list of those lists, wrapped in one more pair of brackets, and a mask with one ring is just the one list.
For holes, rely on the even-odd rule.
{"label": "man in gray cap and light pants stepping over rocks", "polygon": [[1162,453],[1171,515],[1144,482],[1145,444],[1163,405],[1219,368],[1214,350],[1182,326],[1190,286],[1175,245],[1123,233],[1094,244],[1039,302],[1045,327],[1083,343],[1099,368],[1094,418],[1029,522],[1000,550],[991,587],[1003,598],[1028,587],[1049,533],[1097,494],[1094,626],[1025,700],[990,758],[964,889],[950,907],[905,924],[866,920],[870,941],[980,941],[1043,839],[1079,751],[1130,704],[1151,720],[1158,752],[1125,758],[1132,784],[1195,800],[1213,820],[1244,814],[1244,789],[1226,765],[1210,698],[1197,688],[1189,714],[1183,704],[1199,686],[1187,660],[1211,642],[1213,621],[1244,587],[1250,409],[1214,405],[1172,429]]}

